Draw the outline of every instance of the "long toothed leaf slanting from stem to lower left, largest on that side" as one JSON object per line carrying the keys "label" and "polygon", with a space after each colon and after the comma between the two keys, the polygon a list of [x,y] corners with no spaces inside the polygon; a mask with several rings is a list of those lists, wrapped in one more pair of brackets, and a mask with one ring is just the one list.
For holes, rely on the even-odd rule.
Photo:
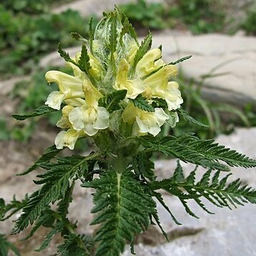
{"label": "long toothed leaf slanting from stem to lower left, largest on that side", "polygon": [[87,160],[93,159],[99,154],[92,154],[88,157],[62,157],[57,158],[56,162],[44,162],[39,164],[40,167],[46,169],[44,174],[39,174],[41,178],[34,181],[36,184],[43,184],[41,189],[34,192],[23,207],[23,213],[16,220],[13,233],[21,232],[46,210],[50,203],[61,200],[66,196],[69,188],[69,180],[81,169],[87,169]]}

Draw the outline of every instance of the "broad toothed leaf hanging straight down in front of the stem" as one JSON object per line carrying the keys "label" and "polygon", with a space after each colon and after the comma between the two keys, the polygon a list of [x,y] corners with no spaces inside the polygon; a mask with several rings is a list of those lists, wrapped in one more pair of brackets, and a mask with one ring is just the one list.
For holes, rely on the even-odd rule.
{"label": "broad toothed leaf hanging straight down in front of the stem", "polygon": [[85,182],[82,187],[96,189],[91,225],[100,227],[94,237],[99,242],[96,255],[119,255],[126,241],[146,230],[154,215],[156,204],[132,172],[122,174],[109,170],[99,179]]}

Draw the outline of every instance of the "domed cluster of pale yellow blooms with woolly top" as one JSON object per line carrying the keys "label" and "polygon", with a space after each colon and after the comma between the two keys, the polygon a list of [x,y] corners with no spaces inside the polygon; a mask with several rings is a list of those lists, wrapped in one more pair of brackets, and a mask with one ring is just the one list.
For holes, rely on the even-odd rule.
{"label": "domed cluster of pale yellow blooms with woolly top", "polygon": [[[119,113],[120,122],[132,127],[130,136],[156,136],[169,119],[169,112],[183,102],[179,85],[174,82],[177,68],[164,63],[161,49],[144,51],[147,39],[139,46],[129,29],[124,33],[126,26],[122,19],[114,25],[113,36],[112,17],[105,17],[97,25],[94,37],[90,41],[84,39],[82,52],[74,59],[66,58],[73,76],[46,72],[46,81],[55,82],[59,91],[51,92],[45,104],[61,109],[62,117],[56,126],[66,129],[56,136],[58,149],[74,149],[79,137],[92,137],[109,127],[112,113],[107,105],[99,104],[99,99],[113,92],[126,90]],[[137,99],[143,99],[150,110],[136,104]],[[157,104],[158,99],[164,100],[166,107]]]}

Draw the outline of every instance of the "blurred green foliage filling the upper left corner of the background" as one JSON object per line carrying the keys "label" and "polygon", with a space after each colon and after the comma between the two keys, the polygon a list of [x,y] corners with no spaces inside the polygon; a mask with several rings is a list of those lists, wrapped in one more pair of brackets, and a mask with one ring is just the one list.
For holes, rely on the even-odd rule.
{"label": "blurred green foliage filling the upper left corner of the background", "polygon": [[[21,4],[26,1],[16,2]],[[33,3],[38,4],[38,1],[31,1]],[[39,11],[39,14],[31,16],[24,10],[14,12],[3,5],[0,6],[0,24],[2,78],[31,72],[41,56],[56,49],[60,37],[64,46],[72,46],[74,41],[70,39],[69,33],[77,31],[85,35],[89,28],[87,19],[83,19],[77,11],[68,10],[61,14]]]}

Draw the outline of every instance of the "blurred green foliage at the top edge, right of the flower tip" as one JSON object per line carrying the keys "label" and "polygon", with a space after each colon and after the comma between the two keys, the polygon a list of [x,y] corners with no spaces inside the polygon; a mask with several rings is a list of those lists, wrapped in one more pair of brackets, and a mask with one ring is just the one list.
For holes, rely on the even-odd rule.
{"label": "blurred green foliage at the top edge, right of the flower tip", "polygon": [[193,34],[222,31],[225,12],[220,11],[220,1],[180,0],[172,4],[137,3],[122,4],[120,9],[135,26],[147,29],[167,29],[187,26]]}

